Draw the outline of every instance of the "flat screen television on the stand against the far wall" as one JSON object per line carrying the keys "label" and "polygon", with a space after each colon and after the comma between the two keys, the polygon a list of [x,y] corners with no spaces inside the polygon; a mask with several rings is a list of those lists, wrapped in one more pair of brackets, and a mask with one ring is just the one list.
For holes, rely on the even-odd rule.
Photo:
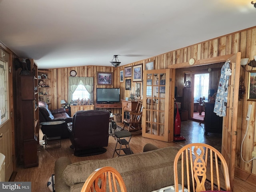
{"label": "flat screen television on the stand against the far wall", "polygon": [[97,88],[97,103],[120,102],[120,88]]}

